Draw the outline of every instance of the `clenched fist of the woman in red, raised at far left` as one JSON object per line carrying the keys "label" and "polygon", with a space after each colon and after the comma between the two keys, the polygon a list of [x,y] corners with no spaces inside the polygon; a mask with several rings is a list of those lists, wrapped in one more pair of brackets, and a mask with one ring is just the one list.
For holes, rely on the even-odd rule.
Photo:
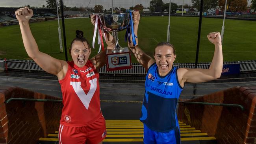
{"label": "clenched fist of the woman in red, raised at far left", "polygon": [[33,10],[30,9],[29,7],[22,7],[15,11],[15,15],[19,22],[28,22],[30,18],[33,16]]}

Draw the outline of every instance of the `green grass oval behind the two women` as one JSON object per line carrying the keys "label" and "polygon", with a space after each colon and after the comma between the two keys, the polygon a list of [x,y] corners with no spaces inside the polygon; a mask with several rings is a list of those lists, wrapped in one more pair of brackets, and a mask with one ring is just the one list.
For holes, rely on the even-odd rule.
{"label": "green grass oval behind the two women", "polygon": [[[171,17],[170,42],[176,48],[176,63],[195,63],[198,33],[197,17]],[[210,62],[214,52],[206,35],[211,31],[221,31],[223,19],[203,18],[198,62]],[[168,17],[141,17],[139,24],[139,46],[150,56],[158,42],[167,39]],[[223,39],[224,61],[243,61],[256,59],[256,22],[245,20],[225,21]],[[30,24],[39,50],[57,59],[65,59],[60,53],[58,38],[58,21],[46,21]],[[62,27],[61,27],[62,28]],[[65,19],[67,47],[75,37],[76,30],[83,30],[84,36],[92,46],[94,26],[89,18]],[[119,42],[124,42],[125,31],[119,32]],[[92,49],[91,56],[98,52],[98,45]],[[106,46],[106,44],[105,44]],[[63,43],[64,50],[64,43]],[[0,27],[0,58],[30,59],[23,46],[19,25]],[[69,60],[71,60],[69,56]],[[137,63],[132,58],[132,63]]]}

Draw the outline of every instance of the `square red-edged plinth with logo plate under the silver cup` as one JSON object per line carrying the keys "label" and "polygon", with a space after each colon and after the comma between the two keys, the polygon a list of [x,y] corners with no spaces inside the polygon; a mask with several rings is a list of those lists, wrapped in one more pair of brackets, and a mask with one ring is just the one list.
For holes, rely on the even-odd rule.
{"label": "square red-edged plinth with logo plate under the silver cup", "polygon": [[113,50],[107,50],[107,70],[124,70],[131,69],[131,54],[128,48],[122,48],[122,52],[113,52]]}

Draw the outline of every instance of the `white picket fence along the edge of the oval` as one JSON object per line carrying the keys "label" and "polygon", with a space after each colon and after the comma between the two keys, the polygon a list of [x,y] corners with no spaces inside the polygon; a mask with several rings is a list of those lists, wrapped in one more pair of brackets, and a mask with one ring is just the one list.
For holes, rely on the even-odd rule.
{"label": "white picket fence along the edge of the oval", "polygon": [[[0,59],[4,61],[4,59]],[[6,59],[7,68],[13,70],[28,70],[28,71],[44,71],[32,60],[17,60]],[[209,68],[211,63],[198,63],[197,68]],[[240,64],[240,72],[256,71],[256,60],[252,61],[233,61],[224,62],[224,64]],[[107,71],[106,65],[100,68],[101,74],[135,74],[145,75],[146,71],[139,63],[133,63],[132,69]],[[195,63],[174,63],[177,68],[195,68]]]}

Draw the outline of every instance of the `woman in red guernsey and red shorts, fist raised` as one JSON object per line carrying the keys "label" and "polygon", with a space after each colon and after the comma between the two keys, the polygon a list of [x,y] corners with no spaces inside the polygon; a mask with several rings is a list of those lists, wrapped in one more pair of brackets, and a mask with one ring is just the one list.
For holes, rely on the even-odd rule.
{"label": "woman in red guernsey and red shorts, fist raised", "polygon": [[[106,64],[106,49],[89,59],[89,43],[83,32],[77,30],[69,48],[72,61],[55,59],[38,49],[29,26],[32,9],[20,8],[15,15],[29,57],[59,79],[63,96],[59,144],[102,144],[106,137],[106,123],[100,110],[98,69]],[[114,47],[112,40],[113,37],[106,33],[109,48]]]}

